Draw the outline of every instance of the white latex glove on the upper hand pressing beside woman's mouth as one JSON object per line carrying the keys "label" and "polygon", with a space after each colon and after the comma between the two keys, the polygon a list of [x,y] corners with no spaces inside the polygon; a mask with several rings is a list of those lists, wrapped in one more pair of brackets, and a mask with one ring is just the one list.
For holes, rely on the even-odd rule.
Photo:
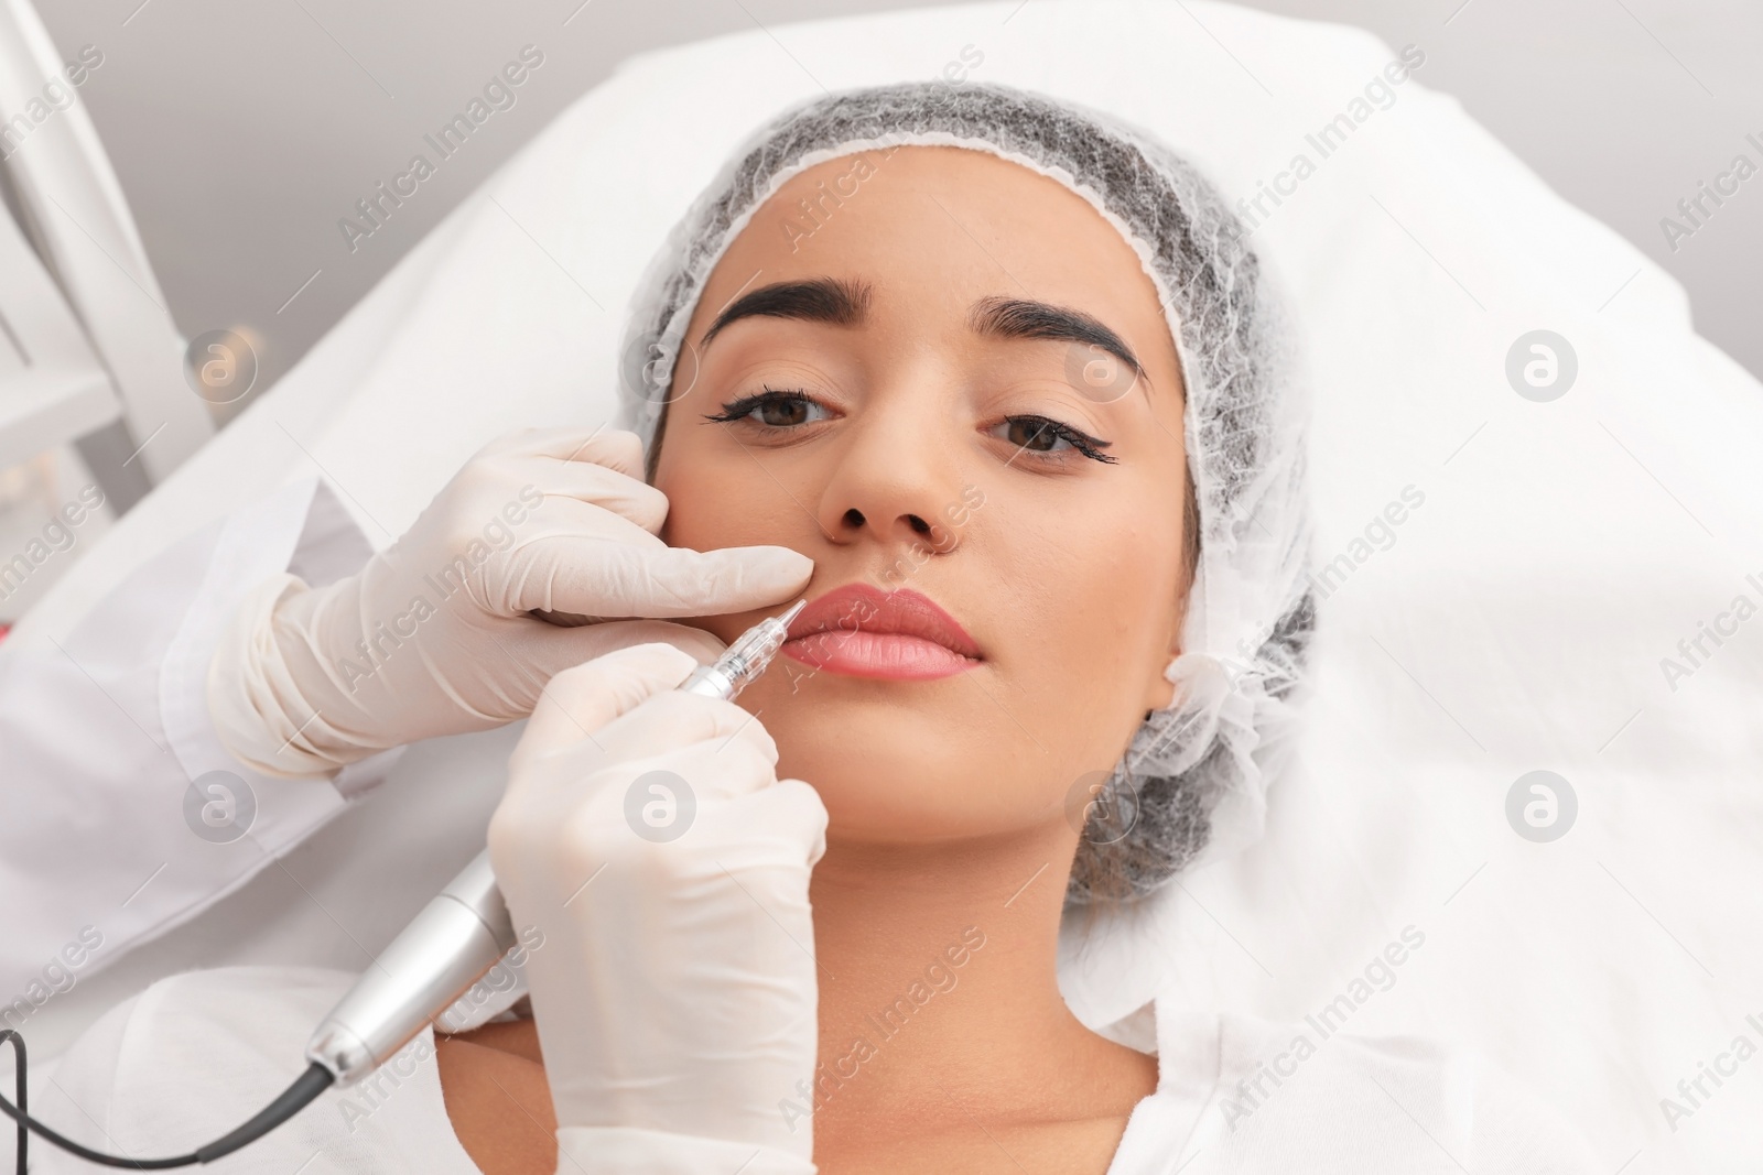
{"label": "white latex glove on the upper hand pressing beside woman's mouth", "polygon": [[[455,474],[411,530],[356,574],[282,574],[227,625],[208,673],[220,742],[268,775],[328,775],[435,735],[531,713],[552,673],[668,641],[702,661],[709,632],[659,620],[788,601],[813,560],[783,546],[670,548],[666,497],[617,430],[510,433]],[[577,613],[559,627],[531,615]]]}

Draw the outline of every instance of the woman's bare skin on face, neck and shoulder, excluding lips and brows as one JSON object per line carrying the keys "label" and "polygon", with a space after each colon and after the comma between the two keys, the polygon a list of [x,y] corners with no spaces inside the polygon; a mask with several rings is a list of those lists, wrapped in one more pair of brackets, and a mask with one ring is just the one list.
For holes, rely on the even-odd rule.
{"label": "woman's bare skin on face, neck and shoulder, excluding lips and brows", "polygon": [[[1079,196],[963,148],[869,160],[809,234],[797,201],[852,159],[795,176],[712,273],[654,467],[672,504],[661,537],[799,550],[815,558],[809,599],[852,581],[915,588],[980,648],[977,668],[927,682],[779,657],[739,698],[776,738],[779,779],[815,784],[829,812],[811,883],[820,1060],[834,1069],[859,1036],[874,1045],[813,1115],[820,1170],[1100,1173],[1157,1060],[1070,1015],[1056,942],[1082,784],[1172,699],[1164,669],[1188,588],[1181,368],[1137,255]],[[816,278],[867,287],[862,322],[744,317],[702,344],[742,294]],[[1123,395],[1093,375],[1086,388],[1086,365],[1111,359],[977,333],[986,298],[1079,310],[1142,373],[1109,384]],[[813,403],[705,419],[767,388]],[[1116,462],[1012,416],[1109,440]],[[693,624],[730,641],[776,611]],[[883,1039],[871,1013],[936,960],[934,997]],[[536,1034],[492,1027],[441,1045],[455,1131],[487,1171],[548,1175]]]}

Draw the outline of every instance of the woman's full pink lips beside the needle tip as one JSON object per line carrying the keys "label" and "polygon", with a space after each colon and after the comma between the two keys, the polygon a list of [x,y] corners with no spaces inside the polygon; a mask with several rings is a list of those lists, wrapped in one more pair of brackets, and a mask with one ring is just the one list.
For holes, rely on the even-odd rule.
{"label": "woman's full pink lips beside the needle tip", "polygon": [[980,664],[978,645],[929,595],[846,583],[790,624],[783,652],[829,673],[927,682]]}

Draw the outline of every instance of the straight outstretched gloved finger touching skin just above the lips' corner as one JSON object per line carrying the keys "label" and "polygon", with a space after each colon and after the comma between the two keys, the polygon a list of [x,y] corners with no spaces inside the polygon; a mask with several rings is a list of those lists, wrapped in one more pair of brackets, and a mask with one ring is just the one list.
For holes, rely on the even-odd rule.
{"label": "straight outstretched gloved finger touching skin just above the lips' corner", "polygon": [[559,543],[520,548],[510,602],[520,611],[587,617],[719,617],[783,604],[815,574],[815,560],[788,546],[684,546]]}

